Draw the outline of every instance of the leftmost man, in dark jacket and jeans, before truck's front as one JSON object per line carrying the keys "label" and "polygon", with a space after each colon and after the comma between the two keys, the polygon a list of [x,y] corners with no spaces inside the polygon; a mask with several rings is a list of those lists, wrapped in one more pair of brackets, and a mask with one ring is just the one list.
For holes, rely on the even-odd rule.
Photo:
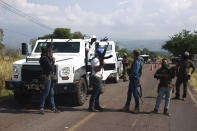
{"label": "leftmost man, in dark jacket and jeans, before truck's front", "polygon": [[47,99],[48,94],[50,95],[52,112],[58,113],[54,101],[54,90],[53,90],[53,81],[51,79],[51,74],[53,73],[53,64],[55,62],[54,57],[50,57],[50,50],[47,47],[42,47],[42,54],[40,57],[40,66],[44,78],[44,91],[42,92],[42,97],[40,101],[40,113],[44,114],[44,105]]}

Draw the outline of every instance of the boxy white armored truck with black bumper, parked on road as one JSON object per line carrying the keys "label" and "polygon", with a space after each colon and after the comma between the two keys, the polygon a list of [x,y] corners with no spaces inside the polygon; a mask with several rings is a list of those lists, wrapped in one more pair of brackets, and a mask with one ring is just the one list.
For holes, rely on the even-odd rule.
{"label": "boxy white armored truck with black bumper, parked on road", "polygon": [[[91,39],[53,39],[54,72],[57,76],[57,82],[54,84],[55,94],[72,94],[71,101],[77,105],[85,103],[90,87],[90,60],[94,57],[96,49],[95,43],[89,45],[90,41]],[[28,45],[22,44],[22,54],[27,56],[13,63],[12,78],[6,81],[6,88],[14,91],[17,102],[29,102],[34,94],[39,94],[44,89],[39,59],[41,48],[49,44],[51,39],[37,40],[31,53],[27,52]],[[112,68],[112,65],[108,66],[107,68]],[[103,80],[110,74],[105,73]]]}

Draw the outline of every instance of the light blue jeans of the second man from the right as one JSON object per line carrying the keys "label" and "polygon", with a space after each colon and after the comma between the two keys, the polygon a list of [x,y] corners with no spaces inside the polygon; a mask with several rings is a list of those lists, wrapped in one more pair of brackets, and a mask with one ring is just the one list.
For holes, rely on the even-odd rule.
{"label": "light blue jeans of the second man from the right", "polygon": [[159,109],[159,105],[160,105],[161,100],[162,100],[164,95],[165,95],[165,106],[164,106],[164,109],[169,109],[170,97],[171,97],[171,94],[172,94],[172,89],[173,88],[164,88],[164,87],[161,87],[159,89],[159,94],[157,96],[155,109],[157,109],[157,110]]}

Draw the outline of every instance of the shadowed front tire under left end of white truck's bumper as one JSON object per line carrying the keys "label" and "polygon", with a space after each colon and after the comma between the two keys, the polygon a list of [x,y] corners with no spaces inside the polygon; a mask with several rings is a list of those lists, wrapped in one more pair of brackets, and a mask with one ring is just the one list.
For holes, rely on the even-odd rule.
{"label": "shadowed front tire under left end of white truck's bumper", "polygon": [[28,104],[31,103],[32,95],[28,94],[21,88],[15,88],[14,98],[18,104]]}

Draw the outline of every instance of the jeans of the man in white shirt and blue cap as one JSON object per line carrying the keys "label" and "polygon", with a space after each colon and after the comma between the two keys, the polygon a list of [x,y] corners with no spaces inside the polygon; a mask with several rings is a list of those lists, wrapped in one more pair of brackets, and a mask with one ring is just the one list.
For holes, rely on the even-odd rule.
{"label": "jeans of the man in white shirt and blue cap", "polygon": [[94,79],[92,81],[93,91],[90,97],[89,108],[100,106],[99,97],[101,95],[101,88],[103,88],[103,81],[101,79]]}

